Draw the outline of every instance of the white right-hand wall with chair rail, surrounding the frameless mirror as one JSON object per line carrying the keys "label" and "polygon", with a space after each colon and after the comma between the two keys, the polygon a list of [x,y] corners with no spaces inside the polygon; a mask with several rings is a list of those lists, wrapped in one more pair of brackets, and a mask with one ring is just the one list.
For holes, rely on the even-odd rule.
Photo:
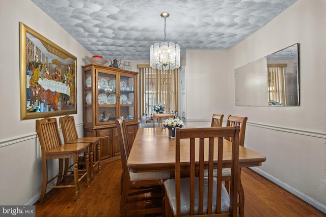
{"label": "white right-hand wall with chair rail, surrounding the frameless mirror", "polygon": [[[230,50],[229,105],[247,115],[245,145],[265,154],[258,168],[326,212],[326,1],[299,0]],[[259,43],[256,43],[258,42]],[[300,43],[300,106],[235,107],[233,69]],[[259,126],[265,125],[265,126]],[[275,128],[275,129],[274,129]]]}

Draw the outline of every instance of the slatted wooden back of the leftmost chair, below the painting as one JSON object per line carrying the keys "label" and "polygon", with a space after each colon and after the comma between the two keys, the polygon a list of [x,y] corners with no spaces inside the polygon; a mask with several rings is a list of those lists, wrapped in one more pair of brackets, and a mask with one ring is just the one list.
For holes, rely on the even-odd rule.
{"label": "slatted wooden back of the leftmost chair, below the painting", "polygon": [[47,117],[36,120],[36,131],[39,136],[42,154],[62,145],[56,118]]}

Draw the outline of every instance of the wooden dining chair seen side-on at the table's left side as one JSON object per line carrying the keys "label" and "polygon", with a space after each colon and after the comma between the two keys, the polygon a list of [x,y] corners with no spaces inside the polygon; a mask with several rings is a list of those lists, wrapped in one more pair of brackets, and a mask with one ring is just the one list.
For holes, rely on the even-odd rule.
{"label": "wooden dining chair seen side-on at the table's left side", "polygon": [[127,160],[129,157],[129,141],[127,136],[127,128],[123,116],[115,120],[118,130],[119,148],[122,163],[123,191],[120,201],[120,214],[125,215],[141,215],[148,213],[162,213],[162,207],[143,208],[127,210],[127,198],[133,195],[148,193],[154,190],[162,190],[162,183],[164,180],[170,178],[170,172],[141,172],[133,173],[127,167]]}

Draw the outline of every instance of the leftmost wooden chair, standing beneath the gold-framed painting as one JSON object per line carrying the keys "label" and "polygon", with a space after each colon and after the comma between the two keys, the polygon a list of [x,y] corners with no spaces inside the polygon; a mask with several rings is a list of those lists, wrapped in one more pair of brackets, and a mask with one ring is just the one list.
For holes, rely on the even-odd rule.
{"label": "leftmost wooden chair, standing beneath the gold-framed painting", "polygon": [[[39,137],[40,146],[42,150],[42,190],[39,201],[43,201],[45,197],[46,189],[53,188],[69,188],[75,187],[75,197],[79,200],[79,181],[87,176],[87,186],[90,182],[90,166],[89,166],[89,149],[90,143],[70,143],[62,144],[59,136],[57,118],[45,117],[41,120],[36,120],[36,132]],[[85,153],[86,158],[86,171],[82,174],[78,171],[78,156]],[[73,161],[73,177],[74,184],[63,185],[62,183],[62,170],[63,170],[63,159],[71,158]],[[47,180],[47,160],[48,159],[59,159],[59,172],[56,176]],[[57,184],[55,186],[49,185],[53,180],[57,178]]]}

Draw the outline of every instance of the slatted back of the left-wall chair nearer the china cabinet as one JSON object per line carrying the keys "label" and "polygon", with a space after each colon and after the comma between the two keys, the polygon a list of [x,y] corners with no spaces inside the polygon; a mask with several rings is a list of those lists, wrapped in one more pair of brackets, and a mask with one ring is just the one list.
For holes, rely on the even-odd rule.
{"label": "slatted back of the left-wall chair nearer the china cabinet", "polygon": [[65,143],[78,139],[78,133],[75,125],[75,118],[70,115],[60,117],[60,125]]}

